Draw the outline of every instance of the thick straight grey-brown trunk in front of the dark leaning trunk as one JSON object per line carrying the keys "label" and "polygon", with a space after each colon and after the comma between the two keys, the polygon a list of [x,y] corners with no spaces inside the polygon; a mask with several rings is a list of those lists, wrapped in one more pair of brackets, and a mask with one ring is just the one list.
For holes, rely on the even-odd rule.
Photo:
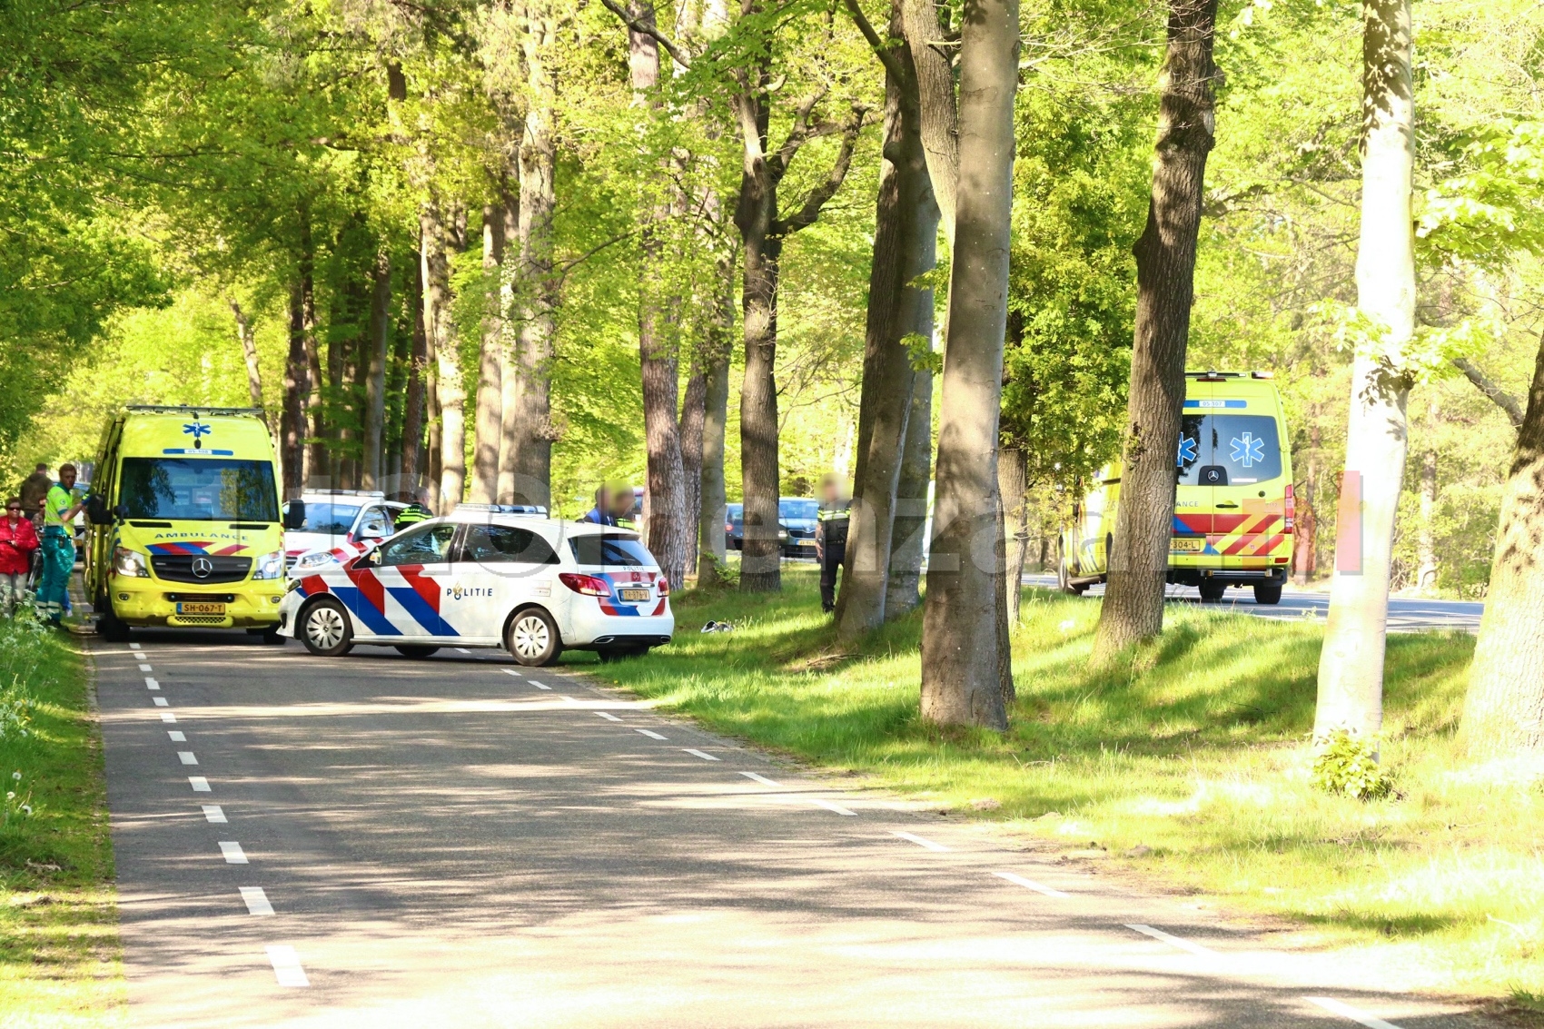
{"label": "thick straight grey-brown trunk in front of the dark leaning trunk", "polygon": [[1005,729],[997,413],[1008,321],[1017,0],[976,0],[960,36],[959,167],[939,423],[936,535],[922,623],[922,717]]}

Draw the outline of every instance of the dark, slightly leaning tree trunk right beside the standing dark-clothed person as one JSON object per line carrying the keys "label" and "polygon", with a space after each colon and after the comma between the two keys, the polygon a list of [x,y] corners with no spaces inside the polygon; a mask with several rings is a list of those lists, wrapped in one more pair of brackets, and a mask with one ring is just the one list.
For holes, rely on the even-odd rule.
{"label": "dark, slightly leaning tree trunk right beside the standing dark-clothed person", "polygon": [[[899,36],[899,11],[891,22],[891,36]],[[885,145],[869,267],[858,474],[838,606],[845,640],[885,623],[896,490],[906,456],[916,380],[906,337],[933,338],[933,290],[911,283],[936,264],[939,205],[933,199],[922,148],[922,111],[911,53],[903,42],[891,53],[894,70],[885,76]]]}

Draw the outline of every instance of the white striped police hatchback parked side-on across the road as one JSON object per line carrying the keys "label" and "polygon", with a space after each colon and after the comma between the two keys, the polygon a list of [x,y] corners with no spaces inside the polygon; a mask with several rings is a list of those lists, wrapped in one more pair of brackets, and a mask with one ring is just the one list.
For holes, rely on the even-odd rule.
{"label": "white striped police hatchback parked side-on across the road", "polygon": [[670,641],[670,584],[635,533],[463,504],[360,556],[296,575],[279,626],[312,654],[355,644],[428,657],[497,647],[527,666],[602,660]]}

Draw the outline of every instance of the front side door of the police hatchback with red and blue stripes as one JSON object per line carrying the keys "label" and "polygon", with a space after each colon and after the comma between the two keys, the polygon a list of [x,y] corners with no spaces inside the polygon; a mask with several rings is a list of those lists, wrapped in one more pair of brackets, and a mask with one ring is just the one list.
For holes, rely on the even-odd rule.
{"label": "front side door of the police hatchback with red and blue stripes", "polygon": [[[357,582],[360,612],[355,613],[372,635],[403,641],[455,641],[465,635],[463,623],[445,604],[459,528],[448,522],[429,522],[381,544],[375,552],[380,556],[369,569],[375,579],[371,595],[366,595],[364,582]],[[380,613],[375,624],[371,624],[366,604]]]}

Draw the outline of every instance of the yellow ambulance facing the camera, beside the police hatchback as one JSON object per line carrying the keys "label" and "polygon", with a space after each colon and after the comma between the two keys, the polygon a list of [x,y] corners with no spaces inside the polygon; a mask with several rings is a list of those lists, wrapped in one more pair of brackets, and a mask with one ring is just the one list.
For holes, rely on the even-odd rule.
{"label": "yellow ambulance facing the camera, beside the police hatchback", "polygon": [[127,406],[86,501],[97,632],[244,627],[283,644],[284,530],[273,442],[249,408]]}

